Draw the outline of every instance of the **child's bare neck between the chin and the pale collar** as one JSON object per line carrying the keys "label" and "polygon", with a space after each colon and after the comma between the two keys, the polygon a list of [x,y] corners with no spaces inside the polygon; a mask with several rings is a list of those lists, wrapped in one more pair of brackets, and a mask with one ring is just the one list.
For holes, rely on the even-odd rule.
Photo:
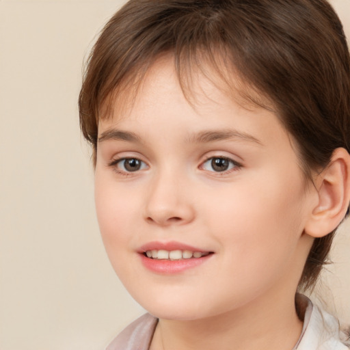
{"label": "child's bare neck between the chin and the pale collar", "polygon": [[206,319],[160,319],[150,350],[291,350],[301,329],[294,297],[286,302],[284,296]]}

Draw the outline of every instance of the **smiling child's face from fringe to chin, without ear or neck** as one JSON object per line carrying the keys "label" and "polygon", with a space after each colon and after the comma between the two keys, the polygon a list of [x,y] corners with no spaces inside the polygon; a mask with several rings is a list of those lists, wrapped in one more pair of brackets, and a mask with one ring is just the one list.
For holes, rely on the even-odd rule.
{"label": "smiling child's face from fringe to chin, without ear or neck", "polygon": [[[99,124],[107,254],[139,304],[167,319],[294,295],[311,244],[302,233],[314,190],[278,118],[240,107],[204,77],[193,90],[195,108],[170,61],[157,62],[133,107]],[[145,250],[210,254],[151,260]]]}

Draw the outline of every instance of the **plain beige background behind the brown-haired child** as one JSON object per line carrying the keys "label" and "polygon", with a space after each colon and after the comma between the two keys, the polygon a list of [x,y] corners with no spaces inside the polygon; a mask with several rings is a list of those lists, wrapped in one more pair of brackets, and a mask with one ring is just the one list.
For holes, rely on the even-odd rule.
{"label": "plain beige background behind the brown-haired child", "polygon": [[[104,349],[143,312],[105,256],[77,116],[83,57],[121,3],[0,0],[1,350]],[[333,3],[350,37],[350,0]],[[347,223],[326,279],[350,322],[349,248]]]}

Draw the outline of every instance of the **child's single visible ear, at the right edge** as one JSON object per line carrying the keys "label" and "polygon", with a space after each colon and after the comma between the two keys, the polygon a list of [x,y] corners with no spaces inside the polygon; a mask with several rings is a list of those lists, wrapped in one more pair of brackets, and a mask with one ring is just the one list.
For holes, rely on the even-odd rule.
{"label": "child's single visible ear, at the right edge", "polygon": [[336,148],[332,159],[314,181],[317,204],[306,222],[305,232],[314,238],[332,232],[344,219],[350,201],[350,155]]}

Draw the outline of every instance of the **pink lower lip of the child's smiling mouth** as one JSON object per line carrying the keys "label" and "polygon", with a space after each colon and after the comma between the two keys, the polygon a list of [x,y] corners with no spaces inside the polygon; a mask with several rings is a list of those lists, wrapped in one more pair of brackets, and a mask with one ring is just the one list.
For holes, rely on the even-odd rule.
{"label": "pink lower lip of the child's smiling mouth", "polygon": [[151,259],[147,256],[144,256],[144,254],[140,254],[140,256],[142,264],[150,271],[164,274],[172,274],[180,273],[186,271],[187,269],[193,269],[194,267],[198,267],[199,265],[202,265],[204,262],[210,259],[211,256],[213,256],[213,254],[202,256],[202,258],[190,258],[181,260]]}

